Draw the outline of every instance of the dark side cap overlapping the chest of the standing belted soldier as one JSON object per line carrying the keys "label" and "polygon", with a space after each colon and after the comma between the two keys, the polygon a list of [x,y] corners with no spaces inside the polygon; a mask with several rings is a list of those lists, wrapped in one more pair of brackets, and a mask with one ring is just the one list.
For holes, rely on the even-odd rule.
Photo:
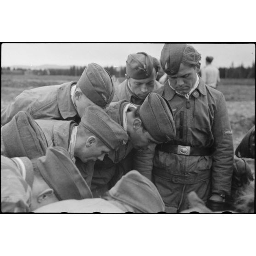
{"label": "dark side cap overlapping the chest of the standing belted soldier", "polygon": [[149,134],[159,142],[167,142],[176,134],[173,111],[169,102],[150,93],[139,108],[139,115]]}

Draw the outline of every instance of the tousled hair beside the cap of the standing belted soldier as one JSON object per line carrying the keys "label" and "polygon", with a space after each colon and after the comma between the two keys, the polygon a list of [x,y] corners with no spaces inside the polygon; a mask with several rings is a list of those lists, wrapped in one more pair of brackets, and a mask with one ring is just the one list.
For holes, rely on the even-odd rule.
{"label": "tousled hair beside the cap of the standing belted soldier", "polygon": [[198,67],[200,69],[201,54],[195,50],[192,45],[186,45],[181,63],[189,67]]}

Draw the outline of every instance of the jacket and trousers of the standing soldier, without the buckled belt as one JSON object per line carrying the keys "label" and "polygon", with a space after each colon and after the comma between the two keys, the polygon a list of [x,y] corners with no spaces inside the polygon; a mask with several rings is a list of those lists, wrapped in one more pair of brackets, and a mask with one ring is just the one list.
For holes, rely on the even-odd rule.
{"label": "jacket and trousers of the standing soldier, without the buckled belt", "polygon": [[201,79],[189,100],[176,94],[168,81],[157,92],[169,101],[174,113],[176,136],[170,145],[212,151],[210,156],[186,156],[156,150],[153,180],[166,211],[188,208],[190,191],[205,202],[211,193],[230,195],[234,149],[223,94]]}

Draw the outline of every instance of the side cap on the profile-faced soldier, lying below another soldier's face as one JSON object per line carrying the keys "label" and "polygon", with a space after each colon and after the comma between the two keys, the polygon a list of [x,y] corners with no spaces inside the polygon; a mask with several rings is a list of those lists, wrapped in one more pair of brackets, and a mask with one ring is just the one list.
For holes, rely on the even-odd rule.
{"label": "side cap on the profile-faced soldier, lying below another soldier's face", "polygon": [[124,128],[98,106],[87,107],[79,125],[95,134],[111,150],[116,150],[128,141]]}

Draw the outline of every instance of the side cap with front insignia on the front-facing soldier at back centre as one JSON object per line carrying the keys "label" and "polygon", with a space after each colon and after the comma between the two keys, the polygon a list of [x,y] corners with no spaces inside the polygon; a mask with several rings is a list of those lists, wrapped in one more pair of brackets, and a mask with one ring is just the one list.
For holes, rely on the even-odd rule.
{"label": "side cap with front insignia on the front-facing soldier at back centre", "polygon": [[145,52],[129,54],[126,61],[126,74],[134,79],[149,78],[153,67],[153,57]]}

